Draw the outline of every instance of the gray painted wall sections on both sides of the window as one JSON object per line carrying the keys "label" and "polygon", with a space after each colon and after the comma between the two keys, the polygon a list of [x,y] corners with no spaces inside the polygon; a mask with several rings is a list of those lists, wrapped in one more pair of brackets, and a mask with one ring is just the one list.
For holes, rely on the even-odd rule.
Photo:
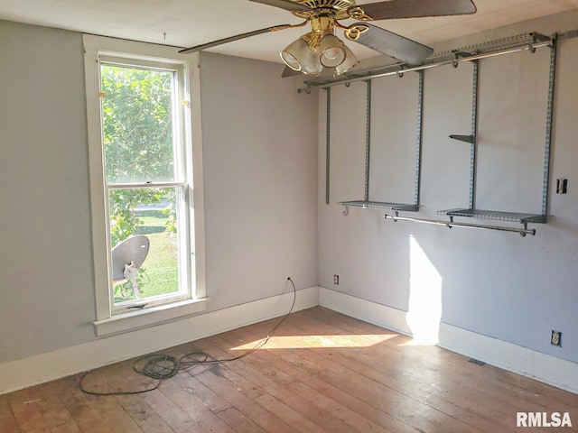
{"label": "gray painted wall sections on both sides of the window", "polygon": [[[2,364],[94,340],[95,300],[81,34],[0,40]],[[316,99],[276,64],[201,63],[208,310],[316,285]]]}

